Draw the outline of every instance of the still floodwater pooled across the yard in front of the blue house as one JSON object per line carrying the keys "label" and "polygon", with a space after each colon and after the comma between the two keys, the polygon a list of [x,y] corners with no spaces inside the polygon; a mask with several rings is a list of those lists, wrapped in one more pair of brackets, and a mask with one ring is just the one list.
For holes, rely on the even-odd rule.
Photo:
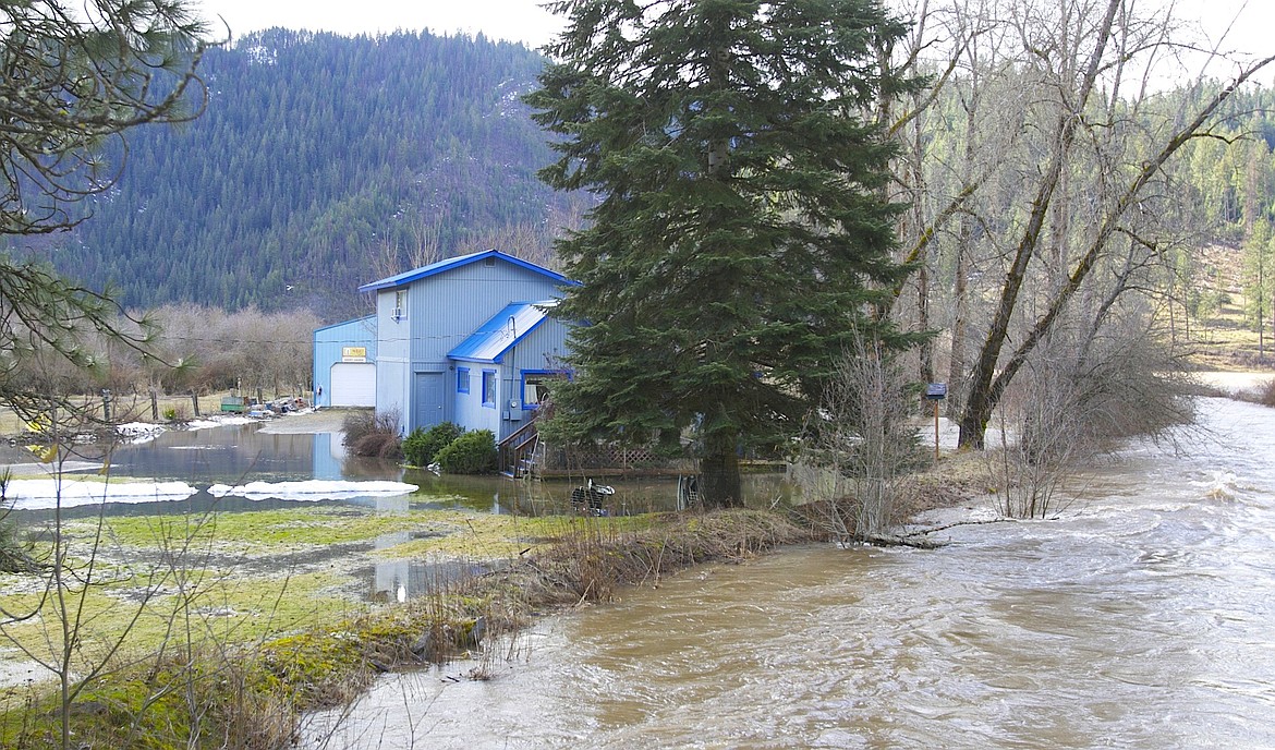
{"label": "still floodwater pooled across the yard in front of the blue house", "polygon": [[[284,417],[287,420],[287,417]],[[143,494],[129,501],[94,501],[64,505],[64,518],[92,518],[98,513],[113,515],[159,515],[215,513],[252,513],[272,509],[295,509],[305,513],[316,506],[358,508],[362,513],[398,514],[407,510],[472,510],[477,513],[543,515],[571,513],[570,495],[575,481],[529,482],[505,477],[436,476],[427,471],[404,469],[393,460],[351,457],[342,446],[339,432],[274,434],[263,423],[229,425],[203,430],[166,431],[153,440],[116,446],[110,454],[112,477],[147,478],[185,482],[198,491],[184,500],[157,500]],[[83,457],[101,460],[101,450],[80,446]],[[96,467],[96,464],[92,464]],[[404,482],[418,489],[400,495],[360,496],[348,491],[339,497],[315,500],[325,495],[306,495],[306,500],[247,497],[235,494],[212,494],[214,485],[245,486],[249,483],[284,483],[319,480],[328,482]],[[607,497],[611,514],[671,510],[676,506],[676,480],[607,480],[616,494]],[[746,487],[756,503],[764,504],[785,492],[782,474],[747,477]],[[268,492],[266,492],[268,494]],[[51,506],[15,510],[14,518],[28,528],[48,524],[55,514]],[[272,564],[317,564],[330,561],[344,568],[356,580],[366,582],[363,596],[370,599],[405,601],[428,596],[439,587],[476,568],[463,562],[440,562],[423,559],[384,559],[375,562],[352,557],[351,552],[372,551],[402,545],[418,534],[399,532],[384,534],[366,543],[346,543],[321,551],[306,550],[295,557],[272,560]]]}

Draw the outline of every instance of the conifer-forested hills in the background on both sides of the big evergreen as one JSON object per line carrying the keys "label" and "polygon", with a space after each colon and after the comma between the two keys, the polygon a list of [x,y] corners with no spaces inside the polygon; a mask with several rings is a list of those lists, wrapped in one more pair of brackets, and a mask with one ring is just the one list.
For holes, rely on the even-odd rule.
{"label": "conifer-forested hills in the background on both sides of the big evergreen", "polygon": [[[210,50],[200,64],[210,93],[203,116],[130,134],[122,179],[85,202],[91,221],[20,242],[76,278],[108,281],[127,307],[307,309],[329,321],[368,311],[358,284],[442,256],[497,246],[556,265],[553,239],[580,226],[593,200],[555,193],[536,177],[553,156],[519,96],[534,88],[543,64],[521,45],[481,36],[250,34]],[[900,190],[929,204],[917,207],[922,214],[938,213],[941,195],[960,191],[952,165],[975,140],[969,128],[987,128],[966,116],[972,91],[992,101],[1006,87],[1029,85],[961,68],[949,78],[929,70],[943,83],[937,99],[898,133],[909,143],[905,152],[924,144],[922,168],[903,181],[919,179],[926,190]],[[1128,114],[1193,111],[1223,84],[1184,80],[1149,94],[1154,107],[1142,101]],[[1264,244],[1255,227],[1269,218],[1275,195],[1272,98],[1269,85],[1247,84],[1213,125],[1233,142],[1193,139],[1167,167],[1184,241],[1174,242],[1172,259],[1163,254],[1173,267],[1163,284],[1181,297],[1188,327],[1193,315],[1207,323],[1228,287],[1257,283],[1244,279],[1262,263],[1247,256],[1255,231]],[[994,147],[984,145],[984,153]],[[1029,151],[1009,156],[1031,159]],[[900,176],[912,168],[900,159]],[[1002,165],[982,177],[973,241],[998,231],[988,217],[1014,221],[1015,168]],[[936,224],[936,245],[945,232],[951,244],[966,241],[959,235],[970,226],[960,217]],[[909,221],[899,228],[904,249],[924,228],[923,217]],[[1221,249],[1196,253],[1210,245]],[[928,265],[927,323],[943,329],[952,323],[942,312],[952,295],[977,290],[955,288],[960,264],[951,253],[940,247]],[[963,269],[965,283],[997,276],[994,263],[986,277],[978,265]],[[1270,284],[1264,278],[1246,297],[1270,297]],[[1265,309],[1246,312],[1251,325],[1260,312],[1269,316]]]}

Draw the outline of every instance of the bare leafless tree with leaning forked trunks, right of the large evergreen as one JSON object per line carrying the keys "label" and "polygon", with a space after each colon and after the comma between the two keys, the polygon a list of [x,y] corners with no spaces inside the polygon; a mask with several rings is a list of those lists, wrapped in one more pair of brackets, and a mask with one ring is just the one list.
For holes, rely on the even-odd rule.
{"label": "bare leafless tree with leaning forked trunks, right of the large evergreen", "polygon": [[[1156,216],[1172,193],[1167,165],[1211,134],[1234,88],[1271,59],[1239,65],[1229,85],[1168,111],[1156,85],[1181,46],[1172,9],[922,5],[932,18],[917,28],[931,37],[913,48],[929,55],[907,64],[928,65],[946,93],[921,97],[923,111],[908,114],[924,121],[926,138],[910,135],[905,153],[924,167],[904,184],[914,210],[901,236],[922,270],[912,282],[918,302],[896,304],[895,315],[947,324],[960,441],[980,448],[1010,383],[1068,310],[1100,321],[1113,295],[1146,291],[1122,269],[1130,242],[1154,258],[1181,237]],[[936,287],[951,290],[946,320],[933,318]]]}

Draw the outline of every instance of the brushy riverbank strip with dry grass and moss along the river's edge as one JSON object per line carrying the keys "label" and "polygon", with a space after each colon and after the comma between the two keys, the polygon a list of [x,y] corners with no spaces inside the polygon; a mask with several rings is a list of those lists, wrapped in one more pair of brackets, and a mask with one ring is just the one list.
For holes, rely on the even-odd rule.
{"label": "brushy riverbank strip with dry grass and moss along the river's edge", "polygon": [[[472,524],[493,518],[454,515],[449,522],[464,527],[462,536],[474,537],[483,534],[470,532],[477,528]],[[131,528],[120,524],[115,533],[142,543],[148,528],[139,520]],[[48,690],[6,691],[0,698],[0,746],[56,745],[64,717],[76,747],[287,746],[302,712],[342,704],[379,671],[478,649],[537,614],[607,601],[620,587],[655,582],[687,565],[745,560],[806,538],[784,517],[751,510],[520,519],[516,529],[505,532],[510,532],[501,534],[509,545],[506,554],[484,556],[486,571],[479,575],[440,580],[427,596],[398,606],[315,606],[309,621],[292,622],[282,636],[278,630],[275,635],[264,630],[232,634],[228,628],[208,628],[205,617],[193,617],[207,614],[207,602],[180,606],[184,584],[180,577],[166,574],[164,596],[176,598],[178,606],[157,617],[167,622],[158,640],[152,633],[148,648],[103,657],[105,668],[65,704]],[[482,545],[490,552],[497,534],[486,536]],[[228,541],[235,537],[227,526],[210,538],[235,546]],[[394,554],[428,551],[431,538],[407,542]],[[307,575],[321,578],[320,573]],[[315,593],[321,583],[303,585]],[[255,596],[263,603],[284,598],[283,592],[256,591]],[[319,601],[321,596],[311,605]]]}

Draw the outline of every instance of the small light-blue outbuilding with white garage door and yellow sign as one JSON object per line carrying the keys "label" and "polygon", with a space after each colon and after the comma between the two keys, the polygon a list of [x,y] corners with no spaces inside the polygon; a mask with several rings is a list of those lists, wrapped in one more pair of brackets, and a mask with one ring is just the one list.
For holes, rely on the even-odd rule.
{"label": "small light-blue outbuilding with white garage door and yellow sign", "polygon": [[376,316],[315,330],[315,406],[376,406]]}

